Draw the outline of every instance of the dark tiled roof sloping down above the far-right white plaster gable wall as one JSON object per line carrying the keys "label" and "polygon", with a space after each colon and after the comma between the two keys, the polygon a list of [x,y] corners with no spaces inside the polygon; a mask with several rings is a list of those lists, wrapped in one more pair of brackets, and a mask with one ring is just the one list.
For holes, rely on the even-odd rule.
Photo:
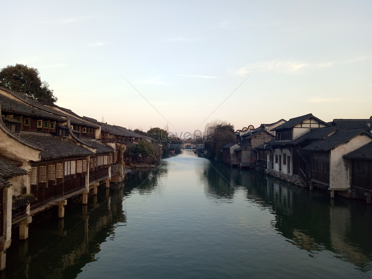
{"label": "dark tiled roof sloping down above the far-right white plaster gable wall", "polygon": [[365,134],[372,137],[371,134],[366,133],[365,131],[363,131],[363,129],[339,130],[329,137],[323,140],[315,141],[302,149],[311,151],[328,151],[331,148],[343,144],[360,134]]}

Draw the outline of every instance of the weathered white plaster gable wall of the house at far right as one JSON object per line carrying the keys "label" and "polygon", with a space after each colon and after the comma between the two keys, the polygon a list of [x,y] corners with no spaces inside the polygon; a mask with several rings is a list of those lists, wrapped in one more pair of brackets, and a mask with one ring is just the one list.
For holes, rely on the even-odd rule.
{"label": "weathered white plaster gable wall of the house at far right", "polygon": [[356,150],[359,147],[371,142],[372,139],[366,135],[357,135],[349,142],[337,146],[331,150],[330,157],[330,188],[350,188],[350,169],[346,167],[343,155]]}

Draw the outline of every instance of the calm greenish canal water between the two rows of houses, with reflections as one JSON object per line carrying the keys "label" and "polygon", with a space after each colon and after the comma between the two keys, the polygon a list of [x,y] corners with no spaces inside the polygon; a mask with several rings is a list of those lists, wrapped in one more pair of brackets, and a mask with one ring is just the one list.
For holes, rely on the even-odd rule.
{"label": "calm greenish canal water between the two rows of houses, with reflections", "polygon": [[192,151],[65,212],[13,238],[2,278],[372,277],[370,205]]}

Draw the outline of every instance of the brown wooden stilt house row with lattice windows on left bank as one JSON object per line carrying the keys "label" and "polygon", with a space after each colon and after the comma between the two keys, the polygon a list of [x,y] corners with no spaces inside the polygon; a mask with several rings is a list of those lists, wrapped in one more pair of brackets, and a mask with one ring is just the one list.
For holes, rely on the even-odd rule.
{"label": "brown wooden stilt house row with lattice windows on left bank", "polygon": [[[44,105],[0,87],[0,270],[12,226],[28,238],[32,216],[112,180],[115,144],[99,139],[100,126],[71,110]],[[119,168],[122,165],[119,166]],[[119,171],[118,171],[119,172]],[[122,174],[122,171],[121,171]],[[122,179],[122,177],[117,177]]]}

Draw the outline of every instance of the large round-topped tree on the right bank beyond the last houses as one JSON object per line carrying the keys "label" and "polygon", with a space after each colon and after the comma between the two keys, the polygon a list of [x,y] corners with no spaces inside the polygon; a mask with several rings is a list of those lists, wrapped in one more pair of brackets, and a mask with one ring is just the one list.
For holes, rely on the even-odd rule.
{"label": "large round-topped tree on the right bank beyond the last houses", "polygon": [[205,133],[207,141],[204,142],[207,151],[206,158],[215,159],[216,161],[223,160],[221,152],[222,146],[229,142],[236,142],[234,125],[226,121],[215,120],[205,125]]}

